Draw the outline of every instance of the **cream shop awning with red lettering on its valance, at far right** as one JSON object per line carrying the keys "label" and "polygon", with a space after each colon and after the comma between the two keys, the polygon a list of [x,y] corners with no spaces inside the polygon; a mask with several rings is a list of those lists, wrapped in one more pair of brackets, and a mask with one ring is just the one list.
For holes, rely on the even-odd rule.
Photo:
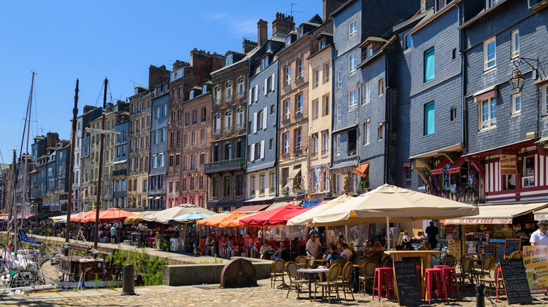
{"label": "cream shop awning with red lettering on its valance, at far right", "polygon": [[548,207],[548,203],[511,203],[479,205],[479,214],[473,217],[445,219],[445,224],[512,224],[514,217]]}

